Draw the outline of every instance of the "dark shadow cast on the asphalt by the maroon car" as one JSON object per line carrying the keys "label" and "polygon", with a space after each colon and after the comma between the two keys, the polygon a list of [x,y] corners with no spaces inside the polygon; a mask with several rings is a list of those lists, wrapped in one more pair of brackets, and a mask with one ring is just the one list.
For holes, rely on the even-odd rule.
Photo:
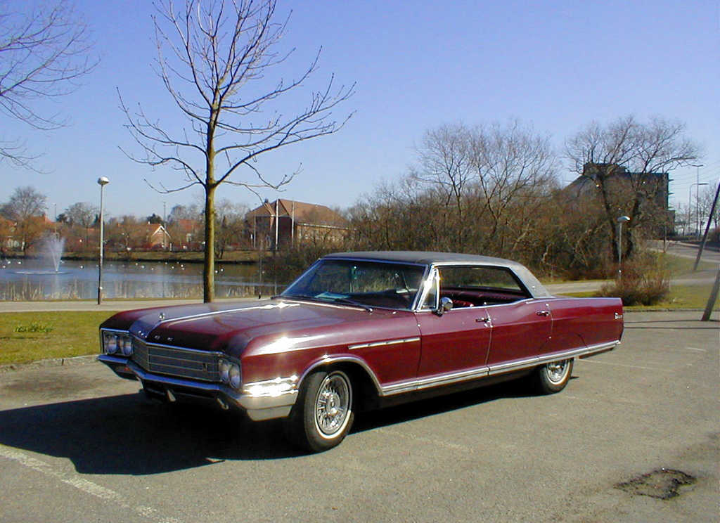
{"label": "dark shadow cast on the asphalt by the maroon car", "polygon": [[[520,383],[510,382],[415,401],[361,413],[352,432],[528,395]],[[277,460],[302,455],[284,438],[278,420],[251,422],[237,411],[167,406],[148,401],[141,394],[0,411],[0,445],[66,458],[78,473],[130,476],[225,460]]]}

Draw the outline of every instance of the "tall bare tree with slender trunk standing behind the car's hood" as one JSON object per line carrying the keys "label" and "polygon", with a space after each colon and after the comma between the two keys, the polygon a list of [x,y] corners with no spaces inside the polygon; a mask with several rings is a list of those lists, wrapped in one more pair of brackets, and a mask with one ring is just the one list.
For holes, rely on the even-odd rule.
{"label": "tall bare tree with slender trunk standing behind the car's hood", "polygon": [[301,88],[318,64],[316,57],[291,81],[269,80],[271,70],[292,53],[283,53],[279,46],[287,22],[275,18],[276,0],[184,0],[181,6],[160,0],[154,19],[158,74],[186,126],[163,127],[141,106],[133,111],[121,99],[127,127],[144,151],[131,158],[184,173],[184,185],[161,185],[158,190],[180,191],[193,185],[204,190],[204,301],[215,297],[217,187],[229,183],[256,191],[284,186],[295,173],[271,180],[258,168],[258,158],[330,135],[346,121],[338,123],[332,110],[351,96],[353,87],[336,88],[333,78],[291,116],[274,105]]}

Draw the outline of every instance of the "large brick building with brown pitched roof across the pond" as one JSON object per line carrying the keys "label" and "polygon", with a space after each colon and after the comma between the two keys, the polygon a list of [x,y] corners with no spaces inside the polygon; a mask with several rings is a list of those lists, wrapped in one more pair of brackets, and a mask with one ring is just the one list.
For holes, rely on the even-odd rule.
{"label": "large brick building with brown pitched roof across the pond", "polygon": [[348,232],[346,219],[329,207],[277,199],[246,214],[253,249],[275,249],[302,242],[339,243]]}

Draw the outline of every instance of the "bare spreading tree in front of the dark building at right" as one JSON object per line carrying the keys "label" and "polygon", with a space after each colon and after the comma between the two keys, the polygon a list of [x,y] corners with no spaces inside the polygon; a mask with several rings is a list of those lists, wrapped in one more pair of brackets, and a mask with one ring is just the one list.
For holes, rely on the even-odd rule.
{"label": "bare spreading tree in front of the dark building at right", "polygon": [[567,156],[574,170],[589,178],[590,186],[598,189],[613,259],[618,257],[616,219],[619,216],[631,217],[625,235],[624,258],[633,253],[637,230],[667,222],[667,213],[652,214],[657,206],[648,203],[662,191],[657,175],[698,158],[700,147],[684,133],[682,122],[653,117],[641,123],[629,116],[606,127],[593,122],[567,141]]}

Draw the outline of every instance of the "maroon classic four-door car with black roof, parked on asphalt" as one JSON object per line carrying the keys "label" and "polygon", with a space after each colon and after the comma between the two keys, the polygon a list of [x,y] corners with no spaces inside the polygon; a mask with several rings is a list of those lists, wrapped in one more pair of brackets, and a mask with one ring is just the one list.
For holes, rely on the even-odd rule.
{"label": "maroon classic four-door car with black roof, parked on asphalt", "polygon": [[356,411],[521,377],[561,391],[575,358],[618,345],[623,309],[551,296],[499,258],[338,253],[272,299],[127,311],[100,332],[99,360],[147,396],[284,418],[319,452]]}

